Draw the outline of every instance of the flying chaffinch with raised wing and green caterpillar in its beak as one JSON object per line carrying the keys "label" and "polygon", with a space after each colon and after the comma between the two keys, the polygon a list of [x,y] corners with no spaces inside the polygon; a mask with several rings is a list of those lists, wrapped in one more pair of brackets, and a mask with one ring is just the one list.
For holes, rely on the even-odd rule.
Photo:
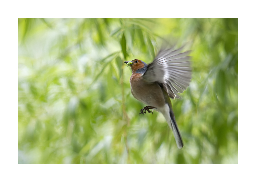
{"label": "flying chaffinch with raised wing and green caterpillar in its beak", "polygon": [[182,48],[161,48],[153,62],[134,59],[124,61],[131,67],[131,93],[134,98],[146,104],[140,114],[152,113],[154,109],[163,114],[172,129],[178,149],[183,140],[178,129],[170,98],[175,99],[178,93],[183,93],[191,81],[190,51],[182,52]]}

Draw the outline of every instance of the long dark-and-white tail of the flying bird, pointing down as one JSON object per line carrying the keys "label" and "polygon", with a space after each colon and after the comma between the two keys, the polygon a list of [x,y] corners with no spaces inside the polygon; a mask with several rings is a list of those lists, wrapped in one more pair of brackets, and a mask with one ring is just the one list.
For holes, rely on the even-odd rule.
{"label": "long dark-and-white tail of the flying bird, pointing down", "polygon": [[[169,104],[168,104],[168,106],[169,106]],[[168,124],[169,124],[170,128],[172,128],[172,130],[173,130],[174,138],[175,138],[178,148],[181,149],[183,147],[183,141],[182,141],[181,134],[179,132],[178,126],[175,121],[175,116],[174,116],[174,113],[172,110],[172,106],[171,107],[169,106],[169,110],[170,110],[170,112],[169,112],[170,121]]]}

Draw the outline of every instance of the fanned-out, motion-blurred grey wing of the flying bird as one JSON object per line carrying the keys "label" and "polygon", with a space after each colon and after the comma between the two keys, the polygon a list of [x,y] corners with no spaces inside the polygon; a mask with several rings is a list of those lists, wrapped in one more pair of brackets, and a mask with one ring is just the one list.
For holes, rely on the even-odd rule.
{"label": "fanned-out, motion-blurred grey wing of the flying bird", "polygon": [[187,56],[190,51],[180,53],[181,49],[160,50],[142,75],[149,83],[160,83],[171,98],[175,98],[177,93],[183,93],[191,80],[191,62],[190,56]]}

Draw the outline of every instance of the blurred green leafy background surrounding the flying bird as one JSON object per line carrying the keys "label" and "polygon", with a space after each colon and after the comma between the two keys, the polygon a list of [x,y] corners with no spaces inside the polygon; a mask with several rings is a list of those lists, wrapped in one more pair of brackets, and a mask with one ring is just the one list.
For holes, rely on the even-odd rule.
{"label": "blurred green leafy background surrounding the flying bird", "polygon": [[[193,50],[181,150],[123,63],[166,35]],[[238,164],[238,18],[18,18],[18,164]]]}

